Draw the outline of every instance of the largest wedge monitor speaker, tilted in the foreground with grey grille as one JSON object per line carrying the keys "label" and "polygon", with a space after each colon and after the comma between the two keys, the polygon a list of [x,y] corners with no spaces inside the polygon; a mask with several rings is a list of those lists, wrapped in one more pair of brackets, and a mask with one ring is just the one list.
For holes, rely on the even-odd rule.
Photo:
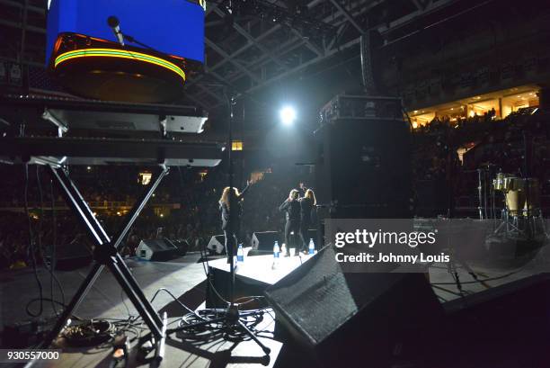
{"label": "largest wedge monitor speaker, tilted in the foreground with grey grille", "polygon": [[424,274],[344,274],[334,257],[324,247],[265,291],[277,329],[326,367],[429,348],[443,310]]}

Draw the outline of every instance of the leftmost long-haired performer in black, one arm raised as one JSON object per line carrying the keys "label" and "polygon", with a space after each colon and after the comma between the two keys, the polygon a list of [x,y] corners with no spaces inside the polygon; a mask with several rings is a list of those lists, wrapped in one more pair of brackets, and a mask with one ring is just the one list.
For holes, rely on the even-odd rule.
{"label": "leftmost long-haired performer in black, one arm raised", "polygon": [[[236,254],[236,247],[238,244],[238,238],[239,238],[239,232],[241,229],[241,217],[243,216],[243,198],[244,193],[248,191],[250,188],[251,183],[247,182],[246,187],[244,188],[243,192],[239,193],[239,190],[237,188],[233,188],[233,202],[230,201],[229,198],[229,187],[226,186],[224,188],[224,192],[222,193],[221,198],[219,199],[219,210],[221,211],[221,217],[222,217],[222,230],[224,230],[224,237],[226,238],[225,246],[226,246],[226,254],[227,254],[227,262],[230,262],[230,257]],[[235,204],[234,211],[230,211],[230,203]],[[233,218],[231,219],[231,228],[229,229],[229,214],[233,215]],[[233,251],[229,251],[232,249]]]}

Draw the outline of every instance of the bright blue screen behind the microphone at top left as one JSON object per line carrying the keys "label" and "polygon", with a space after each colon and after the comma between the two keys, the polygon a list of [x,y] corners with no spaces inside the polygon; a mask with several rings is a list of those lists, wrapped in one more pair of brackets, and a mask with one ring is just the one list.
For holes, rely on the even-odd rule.
{"label": "bright blue screen behind the microphone at top left", "polygon": [[46,63],[61,32],[117,41],[107,25],[111,15],[119,19],[120,31],[139,42],[204,62],[204,9],[200,4],[187,0],[52,0]]}

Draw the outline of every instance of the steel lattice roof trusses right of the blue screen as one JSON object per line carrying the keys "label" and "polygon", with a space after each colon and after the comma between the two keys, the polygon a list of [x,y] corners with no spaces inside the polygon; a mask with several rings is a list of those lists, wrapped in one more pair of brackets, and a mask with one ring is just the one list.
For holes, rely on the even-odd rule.
{"label": "steel lattice roof trusses right of the blue screen", "polygon": [[[408,0],[415,16],[432,11],[453,0]],[[206,62],[204,73],[191,78],[186,87],[190,100],[207,110],[215,110],[226,103],[227,89],[237,93],[252,93],[293,76],[306,67],[359,43],[365,31],[376,28],[388,31],[389,22],[368,26],[368,11],[386,0],[313,0],[307,4],[309,14],[323,14],[315,18],[333,26],[330,35],[310,34],[299,27],[291,27],[269,18],[235,17],[229,26],[238,37],[224,39],[211,36],[207,29]],[[279,6],[286,6],[278,2]],[[222,4],[208,4],[208,24],[226,24],[227,9]],[[410,19],[411,14],[407,14]],[[399,24],[399,21],[392,20]],[[213,27],[215,28],[215,27]],[[236,45],[236,46],[235,46]]]}

